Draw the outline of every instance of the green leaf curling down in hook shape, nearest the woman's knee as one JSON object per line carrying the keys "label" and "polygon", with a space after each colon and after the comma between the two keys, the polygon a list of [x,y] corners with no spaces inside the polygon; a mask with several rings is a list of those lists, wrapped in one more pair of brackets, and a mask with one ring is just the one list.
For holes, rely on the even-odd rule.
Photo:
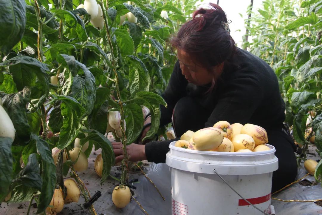
{"label": "green leaf curling down in hook shape, nearest the woman's knee", "polygon": [[142,141],[149,139],[159,129],[160,125],[160,104],[167,106],[166,101],[156,93],[138,92],[132,103],[137,103],[146,106],[151,111],[151,128]]}

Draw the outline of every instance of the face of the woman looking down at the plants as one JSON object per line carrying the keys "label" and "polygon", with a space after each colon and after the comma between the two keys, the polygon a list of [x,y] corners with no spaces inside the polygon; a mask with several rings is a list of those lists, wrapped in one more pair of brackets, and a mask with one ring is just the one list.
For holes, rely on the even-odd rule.
{"label": "face of the woman looking down at the plants", "polygon": [[[181,73],[189,83],[195,85],[205,85],[211,83],[213,80],[213,73],[209,72],[206,68],[196,65],[185,51],[178,50],[177,58],[180,63]],[[217,66],[213,67],[214,71],[218,69]]]}

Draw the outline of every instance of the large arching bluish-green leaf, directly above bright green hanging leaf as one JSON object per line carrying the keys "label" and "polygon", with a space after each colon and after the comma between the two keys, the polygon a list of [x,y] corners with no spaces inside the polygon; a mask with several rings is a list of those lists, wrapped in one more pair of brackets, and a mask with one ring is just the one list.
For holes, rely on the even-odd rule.
{"label": "large arching bluish-green leaf, directly above bright green hanging leaf", "polygon": [[96,96],[95,77],[84,64],[76,61],[74,56],[61,54],[58,61],[66,65],[74,76],[70,96],[75,98],[85,108],[85,114],[89,115]]}

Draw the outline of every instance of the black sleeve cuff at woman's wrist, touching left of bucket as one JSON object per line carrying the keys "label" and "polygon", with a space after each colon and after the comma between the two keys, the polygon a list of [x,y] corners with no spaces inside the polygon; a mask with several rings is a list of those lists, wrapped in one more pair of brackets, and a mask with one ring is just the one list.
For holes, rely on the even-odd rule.
{"label": "black sleeve cuff at woman's wrist, touching left of bucket", "polygon": [[147,161],[155,163],[165,163],[166,153],[168,153],[169,144],[173,141],[180,140],[176,138],[174,140],[168,141],[152,141],[145,145],[145,154],[147,156]]}

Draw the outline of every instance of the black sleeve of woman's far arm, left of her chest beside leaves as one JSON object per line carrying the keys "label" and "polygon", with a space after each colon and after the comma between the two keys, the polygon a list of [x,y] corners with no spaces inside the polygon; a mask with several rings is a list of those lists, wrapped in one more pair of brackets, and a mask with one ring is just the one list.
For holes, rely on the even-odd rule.
{"label": "black sleeve of woman's far arm, left of her chest beside leaves", "polygon": [[185,96],[185,88],[187,86],[187,83],[188,81],[185,79],[185,76],[181,74],[179,61],[177,61],[175,63],[175,67],[173,69],[173,73],[171,74],[166,90],[162,94],[163,99],[167,103],[167,108],[163,105],[160,105],[160,126],[164,126],[171,122],[172,112],[175,104],[179,101],[180,98]]}

